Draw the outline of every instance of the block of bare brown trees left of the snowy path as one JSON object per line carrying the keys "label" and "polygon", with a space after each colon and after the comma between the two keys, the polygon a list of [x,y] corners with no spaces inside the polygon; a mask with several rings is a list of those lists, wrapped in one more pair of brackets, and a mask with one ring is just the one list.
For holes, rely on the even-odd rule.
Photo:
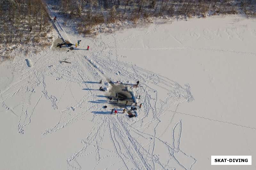
{"label": "block of bare brown trees left of the snowy path", "polygon": [[51,29],[43,0],[0,0],[0,43],[39,43]]}

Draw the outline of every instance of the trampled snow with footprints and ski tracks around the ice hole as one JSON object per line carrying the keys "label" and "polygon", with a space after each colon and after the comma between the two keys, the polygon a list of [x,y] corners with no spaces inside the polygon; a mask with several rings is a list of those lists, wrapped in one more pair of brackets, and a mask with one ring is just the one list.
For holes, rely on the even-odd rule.
{"label": "trampled snow with footprints and ski tracks around the ice hole", "polygon": [[[47,9],[50,16],[55,16],[54,11],[48,5]],[[63,40],[70,40],[57,18],[57,22],[53,23],[59,36]],[[183,114],[177,112],[178,106],[183,102],[191,102],[194,97],[190,91],[189,84],[181,86],[177,82],[158,75],[150,70],[140,68],[134,64],[122,62],[119,60],[121,55],[118,54],[117,43],[119,41],[127,41],[130,39],[136,39],[140,36],[150,35],[156,32],[159,25],[155,24],[155,27],[143,34],[134,35],[124,39],[117,39],[116,34],[113,33],[106,39],[103,36],[99,36],[97,39],[92,40],[94,48],[97,50],[88,51],[86,55],[77,55],[71,57],[72,64],[60,64],[55,65],[50,55],[52,50],[49,49],[47,52],[43,52],[41,55],[37,55],[37,58],[31,56],[30,60],[33,61],[34,66],[31,68],[19,66],[13,64],[12,70],[20,72],[20,77],[15,79],[8,87],[0,91],[1,103],[5,109],[9,109],[6,101],[11,100],[16,95],[22,96],[20,115],[16,115],[16,112],[12,109],[12,112],[19,117],[18,132],[23,134],[25,129],[28,128],[31,121],[33,121],[33,115],[36,113],[36,108],[40,105],[42,98],[49,100],[49,105],[52,110],[59,112],[59,120],[48,129],[42,129],[42,135],[48,135],[50,133],[56,133],[63,128],[67,128],[70,124],[77,121],[82,121],[86,116],[92,115],[92,128],[88,133],[87,137],[82,137],[82,143],[84,146],[67,158],[67,169],[84,169],[83,159],[87,156],[95,157],[97,162],[93,169],[98,169],[98,165],[101,161],[114,158],[115,163],[109,163],[105,165],[106,168],[111,166],[119,166],[119,169],[160,169],[179,167],[185,170],[192,169],[196,163],[196,159],[183,152],[180,148],[182,120],[179,122],[173,122],[174,116]],[[228,33],[228,30],[227,30]],[[107,42],[109,38],[113,38],[113,41]],[[173,37],[176,41],[175,37]],[[179,41],[180,45],[182,43]],[[169,49],[186,49],[192,47],[170,47],[170,48],[127,48],[127,50],[169,50]],[[126,48],[125,48],[126,49]],[[125,50],[123,48],[123,50]],[[196,49],[196,48],[192,48]],[[198,50],[211,50],[229,53],[246,53],[255,55],[250,52],[242,51],[227,51],[221,49],[203,49]],[[115,56],[113,59],[112,57]],[[61,58],[61,56],[59,56]],[[20,57],[15,59],[16,63],[25,63],[25,59]],[[115,73],[118,72],[118,76]],[[50,92],[50,85],[47,83],[47,79],[55,79],[54,84],[64,84],[59,95],[53,95]],[[141,95],[141,99],[138,100],[143,103],[143,107],[137,110],[138,116],[135,118],[128,118],[127,115],[109,115],[109,114],[93,114],[91,111],[100,110],[102,107],[100,103],[89,103],[89,101],[97,101],[101,98],[101,92],[95,91],[98,89],[99,84],[92,84],[86,82],[98,82],[100,79],[104,81],[112,80],[113,82],[135,82],[140,80],[140,87],[133,89],[134,95]],[[88,90],[83,91],[81,97],[76,97],[73,93],[71,85],[78,85]],[[158,91],[155,88],[161,88],[166,92],[165,99],[159,99]],[[35,90],[36,89],[36,90]],[[63,100],[66,93],[70,93],[74,99],[70,105],[61,107],[61,101]],[[32,102],[30,106],[31,97],[36,95],[36,101]],[[175,111],[171,111],[170,107],[175,106]],[[62,109],[62,110],[61,110]],[[101,111],[101,110],[100,110]],[[161,134],[157,133],[157,128],[161,124],[161,117],[166,113],[172,113],[166,128]],[[183,114],[188,116],[194,116],[189,114]],[[223,123],[229,123],[240,127],[247,127],[238,125],[235,123],[224,122],[204,118],[210,121],[217,121]],[[173,126],[172,132],[170,133],[170,126]],[[169,129],[168,129],[169,128]],[[176,133],[175,133],[176,132]],[[178,136],[175,135],[178,132]],[[167,142],[161,139],[163,134],[170,133],[170,141]],[[135,135],[134,135],[135,134]],[[109,140],[112,143],[112,148],[103,148],[101,145],[104,140]],[[146,140],[146,142],[144,141]],[[144,141],[144,142],[142,142]],[[161,145],[166,148],[168,158],[162,160],[155,153],[156,145]],[[94,150],[88,150],[88,147],[93,147]],[[106,155],[101,155],[102,152],[107,152]],[[114,154],[114,155],[113,155]],[[181,161],[176,157],[177,154],[183,155],[187,160],[192,162],[189,166],[183,165]],[[170,165],[170,161],[174,160],[176,165]],[[174,167],[175,166],[175,167]]]}

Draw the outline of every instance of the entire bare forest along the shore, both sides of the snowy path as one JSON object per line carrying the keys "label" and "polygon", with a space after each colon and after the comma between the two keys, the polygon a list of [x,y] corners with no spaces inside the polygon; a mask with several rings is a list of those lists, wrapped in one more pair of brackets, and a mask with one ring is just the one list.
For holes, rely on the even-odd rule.
{"label": "entire bare forest along the shore, both sides of the snowy path", "polygon": [[256,0],[0,0],[0,43],[40,42],[51,29],[46,3],[78,21],[79,33],[95,25],[157,16],[206,17],[244,13],[256,16]]}

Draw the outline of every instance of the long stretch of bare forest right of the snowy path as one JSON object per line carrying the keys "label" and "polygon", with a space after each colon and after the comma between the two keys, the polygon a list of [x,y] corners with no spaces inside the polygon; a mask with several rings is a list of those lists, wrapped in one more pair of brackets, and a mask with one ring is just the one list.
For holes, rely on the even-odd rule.
{"label": "long stretch of bare forest right of the snowy path", "polygon": [[88,34],[101,23],[152,16],[206,17],[244,13],[256,16],[256,0],[48,0],[69,18],[80,18],[78,31]]}

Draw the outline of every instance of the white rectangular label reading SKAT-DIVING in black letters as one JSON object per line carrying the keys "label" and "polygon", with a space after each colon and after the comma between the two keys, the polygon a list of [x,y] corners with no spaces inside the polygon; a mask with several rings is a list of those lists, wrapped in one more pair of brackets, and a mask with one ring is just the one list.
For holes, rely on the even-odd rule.
{"label": "white rectangular label reading SKAT-DIVING in black letters", "polygon": [[252,156],[212,156],[211,165],[252,165]]}

